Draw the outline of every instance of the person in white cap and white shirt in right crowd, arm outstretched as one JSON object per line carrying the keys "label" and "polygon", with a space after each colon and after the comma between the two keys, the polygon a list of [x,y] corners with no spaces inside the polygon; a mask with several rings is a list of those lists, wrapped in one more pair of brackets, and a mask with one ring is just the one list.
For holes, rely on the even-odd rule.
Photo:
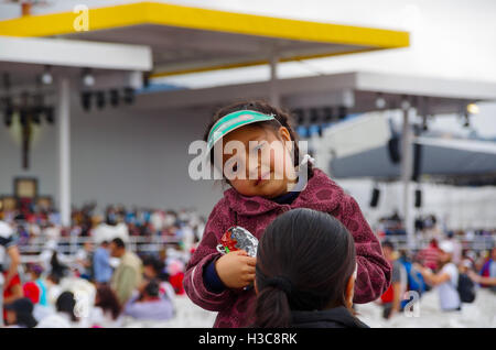
{"label": "person in white cap and white shirt in right crowd, arm outstretched", "polygon": [[435,286],[439,293],[441,309],[443,311],[460,311],[462,302],[456,286],[459,283],[459,269],[452,262],[454,251],[453,242],[442,241],[440,243],[440,271],[433,273],[429,267],[414,264],[414,267],[422,274],[425,283]]}

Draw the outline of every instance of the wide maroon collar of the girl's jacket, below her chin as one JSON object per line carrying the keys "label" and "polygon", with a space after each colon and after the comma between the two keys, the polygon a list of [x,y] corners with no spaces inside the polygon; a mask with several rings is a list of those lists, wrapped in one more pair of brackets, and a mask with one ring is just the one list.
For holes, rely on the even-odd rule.
{"label": "wide maroon collar of the girl's jacket, below her chin", "polygon": [[[338,207],[344,195],[343,189],[324,172],[314,168],[313,176],[309,178],[306,187],[300,193],[290,207],[331,212]],[[280,205],[260,196],[242,196],[234,188],[229,188],[224,193],[224,199],[231,210],[244,216],[257,216],[288,206]]]}

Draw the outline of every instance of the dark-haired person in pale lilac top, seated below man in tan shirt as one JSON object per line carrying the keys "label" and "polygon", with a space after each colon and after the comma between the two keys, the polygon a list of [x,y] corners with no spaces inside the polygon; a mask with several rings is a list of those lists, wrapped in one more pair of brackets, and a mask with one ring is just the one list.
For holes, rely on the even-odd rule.
{"label": "dark-haired person in pale lilac top, seated below man in tan shirt", "polygon": [[150,281],[142,293],[136,293],[126,304],[123,315],[136,319],[168,320],[174,316],[174,307],[168,297],[160,295],[159,281]]}

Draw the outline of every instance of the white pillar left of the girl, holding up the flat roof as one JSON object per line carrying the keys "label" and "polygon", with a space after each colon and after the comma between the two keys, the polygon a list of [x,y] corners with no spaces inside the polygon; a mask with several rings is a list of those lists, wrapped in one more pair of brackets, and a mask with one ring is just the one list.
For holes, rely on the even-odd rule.
{"label": "white pillar left of the girl, holding up the flat roof", "polygon": [[63,77],[57,89],[58,205],[62,226],[71,226],[71,85]]}

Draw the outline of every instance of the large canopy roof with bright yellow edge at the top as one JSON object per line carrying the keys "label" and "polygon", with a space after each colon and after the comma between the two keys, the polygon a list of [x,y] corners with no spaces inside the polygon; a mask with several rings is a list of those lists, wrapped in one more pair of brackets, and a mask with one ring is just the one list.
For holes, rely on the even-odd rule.
{"label": "large canopy roof with bright yellow edge at the top", "polygon": [[62,36],[149,45],[153,76],[406,47],[403,31],[317,23],[138,2],[90,9],[89,31],[76,32],[73,12],[0,21],[0,35]]}

